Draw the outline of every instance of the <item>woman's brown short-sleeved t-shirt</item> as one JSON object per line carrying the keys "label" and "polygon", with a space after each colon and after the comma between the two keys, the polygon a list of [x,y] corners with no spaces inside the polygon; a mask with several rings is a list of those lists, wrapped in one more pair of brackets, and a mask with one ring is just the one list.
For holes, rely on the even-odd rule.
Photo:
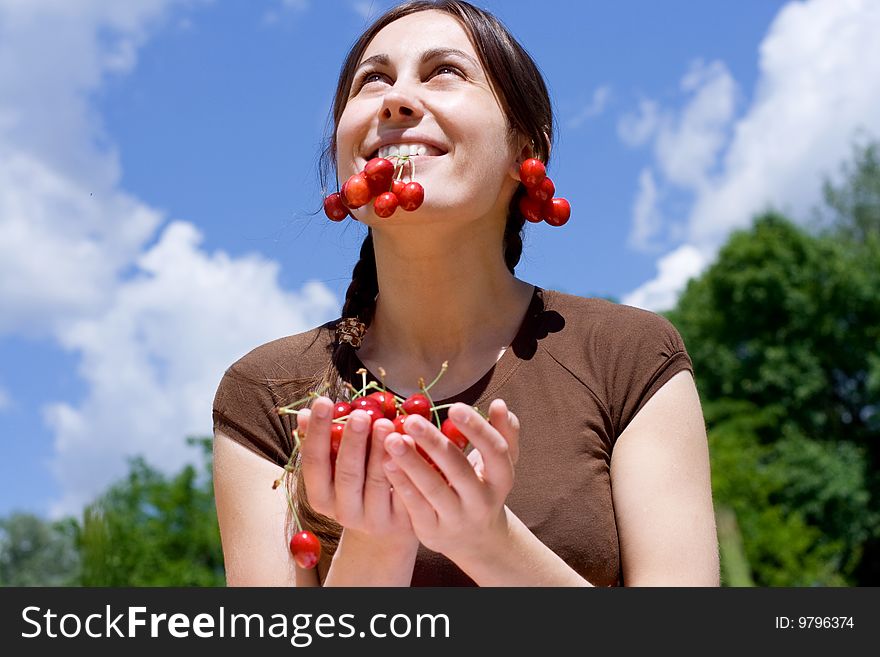
{"label": "woman's brown short-sleeved t-shirt", "polygon": [[[293,416],[274,409],[293,401],[291,379],[323,371],[337,321],[264,344],[234,363],[214,399],[215,431],[286,463]],[[467,390],[434,401],[485,411],[493,399],[504,399],[520,420],[507,506],[589,582],[612,586],[623,583],[611,498],[614,443],[682,370],[693,373],[690,358],[678,331],[660,315],[536,287],[513,343],[494,367]],[[360,387],[360,379],[351,382]],[[412,584],[474,582],[421,546]]]}

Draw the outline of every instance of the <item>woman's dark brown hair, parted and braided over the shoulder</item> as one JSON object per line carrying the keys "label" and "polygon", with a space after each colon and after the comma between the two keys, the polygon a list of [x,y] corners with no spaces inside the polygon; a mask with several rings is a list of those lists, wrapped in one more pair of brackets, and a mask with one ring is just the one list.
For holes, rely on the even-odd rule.
{"label": "woman's dark brown hair, parted and braided over the shoulder", "polygon": [[[511,134],[527,138],[531,142],[534,157],[545,163],[549,160],[553,140],[550,97],[541,72],[526,50],[511,36],[501,21],[472,4],[459,0],[413,0],[400,4],[377,18],[352,46],[342,65],[333,100],[331,127],[321,155],[320,173],[324,189],[327,189],[326,183],[331,174],[334,180],[336,178],[336,129],[364,51],[376,34],[389,23],[428,10],[449,14],[462,24],[508,118]],[[511,199],[501,245],[504,262],[511,273],[522,255],[525,218],[519,211],[519,199],[524,193],[525,188],[520,185]],[[361,245],[360,259],[354,266],[351,284],[345,293],[342,317],[357,317],[369,326],[378,293],[376,254],[373,250],[372,231],[368,229]],[[347,396],[344,379],[351,379],[354,368],[353,347],[345,342],[337,342],[327,369],[312,389],[324,390],[321,394],[331,399],[344,398]],[[294,499],[300,521],[305,528],[311,529],[318,536],[324,554],[332,555],[338,545],[342,528],[309,506],[299,474],[299,459],[296,459],[294,480],[297,483]]]}

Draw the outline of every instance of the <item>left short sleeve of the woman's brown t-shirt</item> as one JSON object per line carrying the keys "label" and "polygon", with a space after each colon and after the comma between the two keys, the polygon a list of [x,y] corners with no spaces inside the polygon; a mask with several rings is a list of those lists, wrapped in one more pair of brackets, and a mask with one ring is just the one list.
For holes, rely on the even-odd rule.
{"label": "left short sleeve of the woman's brown t-shirt", "polygon": [[278,403],[268,381],[248,369],[236,363],[220,380],[214,396],[214,432],[283,466],[290,454],[290,423],[275,410]]}

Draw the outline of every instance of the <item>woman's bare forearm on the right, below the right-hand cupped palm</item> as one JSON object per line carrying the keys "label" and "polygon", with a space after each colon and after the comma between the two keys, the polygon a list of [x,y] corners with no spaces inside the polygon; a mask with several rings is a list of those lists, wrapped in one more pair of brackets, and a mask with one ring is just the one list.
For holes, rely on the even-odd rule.
{"label": "woman's bare forearm on the right, below the right-hand cupped palm", "polygon": [[504,507],[503,532],[470,554],[447,555],[480,586],[593,586]]}

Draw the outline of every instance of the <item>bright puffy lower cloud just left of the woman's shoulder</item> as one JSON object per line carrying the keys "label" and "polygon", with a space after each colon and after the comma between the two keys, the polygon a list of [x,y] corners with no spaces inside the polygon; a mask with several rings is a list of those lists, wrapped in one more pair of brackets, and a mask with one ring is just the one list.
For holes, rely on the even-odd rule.
{"label": "bright puffy lower cloud just left of the woman's shoulder", "polygon": [[120,284],[111,307],[63,331],[81,354],[88,396],[46,409],[56,434],[53,469],[75,511],[124,472],[125,455],[146,454],[163,469],[191,457],[190,434],[210,433],[210,408],[223,371],[267,340],[320,324],[338,311],[321,283],[287,292],[277,263],[232,259],[199,249],[201,235],[170,224]]}

